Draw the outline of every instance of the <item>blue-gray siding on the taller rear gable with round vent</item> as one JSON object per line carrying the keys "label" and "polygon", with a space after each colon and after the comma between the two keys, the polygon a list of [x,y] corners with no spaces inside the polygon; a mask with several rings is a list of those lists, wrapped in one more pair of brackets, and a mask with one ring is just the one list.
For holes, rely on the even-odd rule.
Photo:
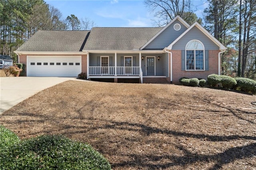
{"label": "blue-gray siding on the taller rear gable with round vent", "polygon": [[[179,31],[174,30],[174,24],[180,24]],[[150,42],[144,49],[164,49],[168,47],[174,40],[176,40],[183,32],[187,30],[179,20],[173,22],[168,28],[166,28],[158,37]]]}

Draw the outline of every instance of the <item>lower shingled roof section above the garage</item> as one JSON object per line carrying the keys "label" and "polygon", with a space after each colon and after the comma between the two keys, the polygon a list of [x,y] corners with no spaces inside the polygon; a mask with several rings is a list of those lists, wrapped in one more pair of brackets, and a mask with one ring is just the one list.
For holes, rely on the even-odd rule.
{"label": "lower shingled roof section above the garage", "polygon": [[16,51],[81,51],[90,31],[38,31]]}

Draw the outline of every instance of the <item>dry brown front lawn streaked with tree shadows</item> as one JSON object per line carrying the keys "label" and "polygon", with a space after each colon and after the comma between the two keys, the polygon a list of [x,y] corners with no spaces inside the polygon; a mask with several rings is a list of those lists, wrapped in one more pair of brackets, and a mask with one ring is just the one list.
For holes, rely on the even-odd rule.
{"label": "dry brown front lawn streaked with tree shadows", "polygon": [[159,84],[66,81],[0,116],[20,138],[88,142],[113,169],[256,169],[256,96]]}

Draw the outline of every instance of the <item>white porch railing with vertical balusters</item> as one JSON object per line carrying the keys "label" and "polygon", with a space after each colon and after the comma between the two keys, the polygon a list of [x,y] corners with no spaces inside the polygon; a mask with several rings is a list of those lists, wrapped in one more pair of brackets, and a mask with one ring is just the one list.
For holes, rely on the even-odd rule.
{"label": "white porch railing with vertical balusters", "polygon": [[90,66],[89,75],[140,75],[140,67],[100,67]]}

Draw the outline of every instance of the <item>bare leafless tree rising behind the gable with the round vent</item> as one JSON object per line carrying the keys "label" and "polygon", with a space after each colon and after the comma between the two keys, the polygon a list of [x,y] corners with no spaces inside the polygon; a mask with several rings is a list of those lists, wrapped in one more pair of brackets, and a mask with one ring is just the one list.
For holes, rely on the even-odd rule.
{"label": "bare leafless tree rising behind the gable with the round vent", "polygon": [[190,21],[191,17],[194,17],[190,15],[193,14],[191,0],[145,0],[144,3],[159,18],[154,21],[158,26],[168,24],[176,16],[182,17],[185,21]]}

